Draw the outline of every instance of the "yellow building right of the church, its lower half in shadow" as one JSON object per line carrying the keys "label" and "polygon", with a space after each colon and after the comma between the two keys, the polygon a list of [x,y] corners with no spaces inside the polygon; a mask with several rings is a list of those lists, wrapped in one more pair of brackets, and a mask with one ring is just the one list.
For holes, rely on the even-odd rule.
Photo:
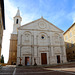
{"label": "yellow building right of the church, its lower half in shadow", "polygon": [[75,23],[73,23],[63,35],[66,46],[67,60],[75,61]]}

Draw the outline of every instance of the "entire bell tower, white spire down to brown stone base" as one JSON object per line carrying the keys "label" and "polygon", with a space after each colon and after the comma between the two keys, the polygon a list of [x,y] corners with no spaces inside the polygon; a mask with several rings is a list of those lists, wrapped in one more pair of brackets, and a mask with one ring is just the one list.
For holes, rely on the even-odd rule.
{"label": "entire bell tower, white spire down to brown stone base", "polygon": [[10,48],[9,48],[9,65],[16,64],[17,60],[17,31],[18,27],[21,26],[22,18],[20,16],[19,9],[17,10],[16,16],[14,17],[14,24],[13,24],[13,32],[10,38]]}

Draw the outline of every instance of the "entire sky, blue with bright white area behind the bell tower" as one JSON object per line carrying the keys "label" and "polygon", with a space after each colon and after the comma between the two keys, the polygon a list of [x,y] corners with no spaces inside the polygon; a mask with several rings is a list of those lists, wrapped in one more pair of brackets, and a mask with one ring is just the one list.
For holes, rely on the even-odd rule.
{"label": "entire sky, blue with bright white area behind the bell tower", "polygon": [[22,25],[43,16],[63,31],[75,22],[75,0],[5,0],[5,24],[2,54],[5,62],[9,58],[10,34],[13,31],[13,17],[19,7]]}

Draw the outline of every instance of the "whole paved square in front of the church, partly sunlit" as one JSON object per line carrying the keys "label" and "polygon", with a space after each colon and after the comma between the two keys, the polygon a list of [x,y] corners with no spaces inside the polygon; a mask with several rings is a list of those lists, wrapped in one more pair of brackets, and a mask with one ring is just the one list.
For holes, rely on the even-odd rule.
{"label": "whole paved square in front of the church, partly sunlit", "polygon": [[51,67],[15,67],[5,66],[0,75],[75,75],[75,64]]}

